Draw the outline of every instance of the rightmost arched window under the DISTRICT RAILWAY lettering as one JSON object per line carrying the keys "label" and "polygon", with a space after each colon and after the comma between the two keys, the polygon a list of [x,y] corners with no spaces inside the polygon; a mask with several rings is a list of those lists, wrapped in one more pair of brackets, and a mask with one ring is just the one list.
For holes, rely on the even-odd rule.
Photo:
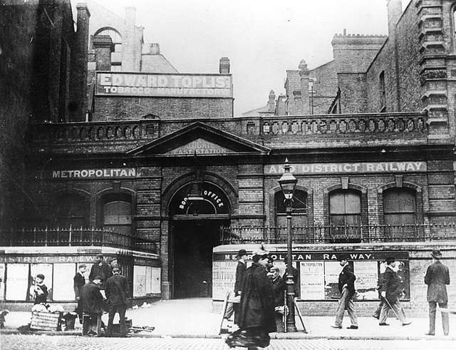
{"label": "rightmost arched window under the DISTRICT RAILWAY lettering", "polygon": [[387,225],[415,225],[416,193],[408,188],[383,192],[383,217]]}

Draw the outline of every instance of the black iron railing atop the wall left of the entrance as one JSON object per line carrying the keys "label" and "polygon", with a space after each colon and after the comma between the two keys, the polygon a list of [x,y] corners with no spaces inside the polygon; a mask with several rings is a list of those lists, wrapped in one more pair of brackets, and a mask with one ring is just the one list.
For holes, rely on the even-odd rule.
{"label": "black iron railing atop the wall left of the entrance", "polygon": [[3,232],[0,245],[10,247],[33,246],[103,246],[156,252],[155,242],[106,229],[83,227],[33,228]]}

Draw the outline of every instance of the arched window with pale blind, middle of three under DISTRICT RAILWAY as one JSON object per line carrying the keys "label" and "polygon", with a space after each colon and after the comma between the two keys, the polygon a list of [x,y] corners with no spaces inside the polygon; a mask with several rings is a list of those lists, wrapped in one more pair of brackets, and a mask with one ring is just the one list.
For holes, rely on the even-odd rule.
{"label": "arched window with pale blind, middle of three under DISTRICT RAILWAY", "polygon": [[336,190],[329,195],[331,225],[361,225],[361,194],[353,190]]}

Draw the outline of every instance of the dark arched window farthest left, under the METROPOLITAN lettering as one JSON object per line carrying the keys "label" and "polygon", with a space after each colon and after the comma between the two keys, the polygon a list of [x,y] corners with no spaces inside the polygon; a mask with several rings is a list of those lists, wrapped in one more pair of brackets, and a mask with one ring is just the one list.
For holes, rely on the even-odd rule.
{"label": "dark arched window farthest left, under the METROPOLITAN lettering", "polygon": [[58,227],[87,227],[88,198],[77,194],[63,194],[56,201],[56,225]]}

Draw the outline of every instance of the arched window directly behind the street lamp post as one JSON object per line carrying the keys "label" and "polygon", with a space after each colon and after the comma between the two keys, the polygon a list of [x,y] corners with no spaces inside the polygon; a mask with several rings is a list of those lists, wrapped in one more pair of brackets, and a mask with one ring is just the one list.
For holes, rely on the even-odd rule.
{"label": "arched window directly behind the street lamp post", "polygon": [[[293,208],[292,215],[294,216],[293,225],[307,225],[307,201],[307,192],[302,190],[295,190],[293,195],[293,203],[291,205]],[[284,193],[282,191],[276,192],[274,195],[274,207],[276,212],[276,226],[286,226],[286,203]]]}

